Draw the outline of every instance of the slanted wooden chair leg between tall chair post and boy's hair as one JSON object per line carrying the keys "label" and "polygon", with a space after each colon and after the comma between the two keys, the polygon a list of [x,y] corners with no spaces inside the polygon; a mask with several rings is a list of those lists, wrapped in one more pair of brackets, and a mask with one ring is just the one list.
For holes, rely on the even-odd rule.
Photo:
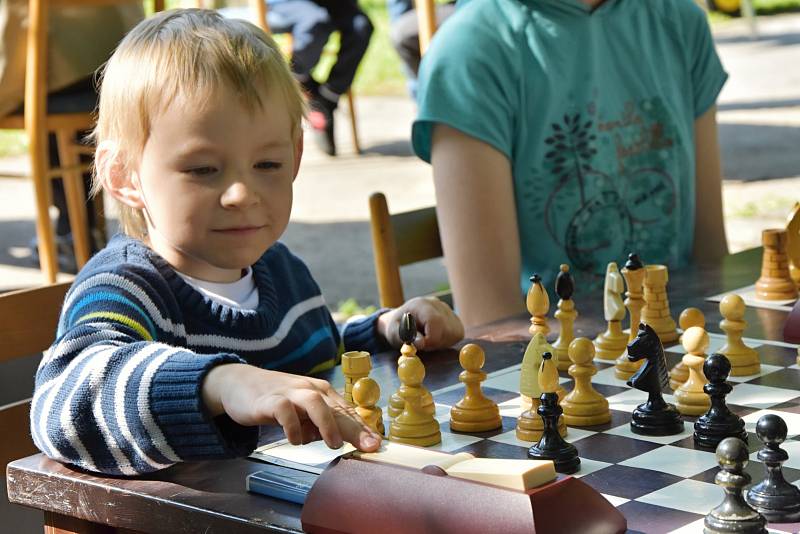
{"label": "slanted wooden chair leg between tall chair post and boy's hair", "polygon": [[75,262],[78,269],[86,265],[92,255],[89,241],[89,217],[86,213],[86,187],[80,171],[80,156],[73,148],[75,132],[71,130],[56,131],[58,159],[64,169],[61,179],[64,181],[64,196],[67,200],[69,226],[72,230],[72,243],[75,248]]}

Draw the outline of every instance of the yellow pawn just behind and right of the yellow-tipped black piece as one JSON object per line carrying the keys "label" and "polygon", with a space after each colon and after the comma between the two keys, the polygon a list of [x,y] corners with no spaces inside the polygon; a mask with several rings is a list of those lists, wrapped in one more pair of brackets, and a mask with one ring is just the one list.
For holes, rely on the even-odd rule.
{"label": "yellow pawn just behind and right of the yellow-tipped black piece", "polygon": [[579,337],[569,344],[569,359],[572,361],[569,374],[575,379],[575,387],[561,401],[561,408],[570,426],[594,426],[611,421],[608,401],[592,387],[592,376],[597,374],[593,358],[591,340]]}

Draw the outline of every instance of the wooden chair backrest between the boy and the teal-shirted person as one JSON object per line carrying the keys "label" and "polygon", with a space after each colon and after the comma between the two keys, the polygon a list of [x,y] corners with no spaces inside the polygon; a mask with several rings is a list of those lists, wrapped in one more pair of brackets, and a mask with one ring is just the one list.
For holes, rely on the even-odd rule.
{"label": "wooden chair backrest between the boy and the teal-shirted person", "polygon": [[369,197],[372,251],[381,306],[405,302],[400,267],[443,255],[436,208],[389,214],[383,193]]}

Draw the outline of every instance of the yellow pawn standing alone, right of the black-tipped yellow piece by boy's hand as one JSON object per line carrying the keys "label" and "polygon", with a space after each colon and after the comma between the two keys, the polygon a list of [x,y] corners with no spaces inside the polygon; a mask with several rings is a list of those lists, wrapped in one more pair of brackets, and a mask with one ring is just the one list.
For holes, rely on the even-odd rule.
{"label": "yellow pawn standing alone, right of the black-tipped yellow piece by boy's hand", "polygon": [[450,430],[455,432],[486,432],[503,426],[497,404],[486,398],[481,382],[486,373],[481,367],[486,361],[483,349],[474,343],[464,345],[458,355],[464,371],[458,379],[464,383],[464,398],[450,409]]}

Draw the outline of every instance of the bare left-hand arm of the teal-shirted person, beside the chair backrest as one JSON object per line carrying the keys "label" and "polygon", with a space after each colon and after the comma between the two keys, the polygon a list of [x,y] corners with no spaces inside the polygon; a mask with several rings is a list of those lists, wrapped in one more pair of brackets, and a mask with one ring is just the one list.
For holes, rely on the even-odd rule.
{"label": "bare left-hand arm of the teal-shirted person, beside the chair backrest", "polygon": [[437,124],[431,164],[442,248],[464,325],[524,311],[508,158],[487,143]]}

